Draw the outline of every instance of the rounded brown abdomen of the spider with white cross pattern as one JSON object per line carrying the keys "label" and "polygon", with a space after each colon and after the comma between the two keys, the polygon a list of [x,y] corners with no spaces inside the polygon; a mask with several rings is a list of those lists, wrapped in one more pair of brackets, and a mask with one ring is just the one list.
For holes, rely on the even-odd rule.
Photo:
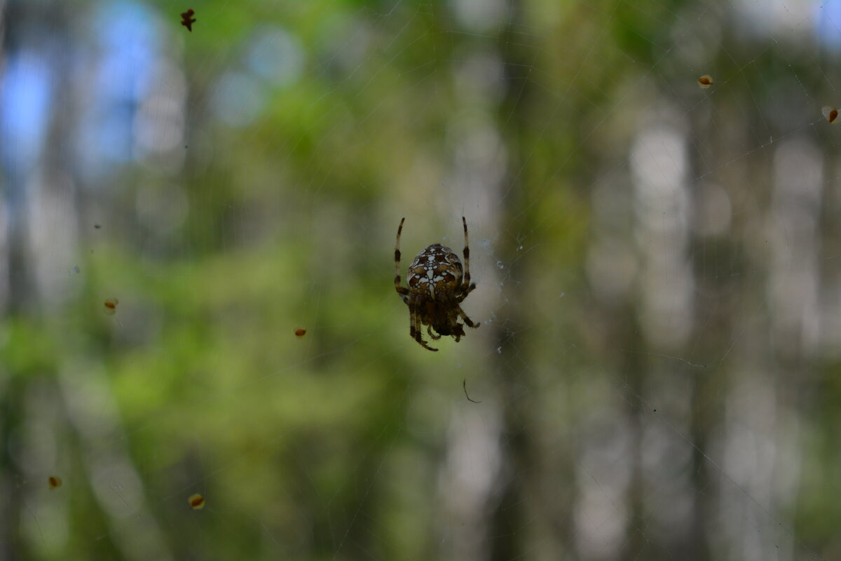
{"label": "rounded brown abdomen of the spider with white cross pattern", "polygon": [[452,299],[461,286],[463,267],[452,249],[441,244],[427,246],[409,266],[406,282],[410,292],[430,299]]}

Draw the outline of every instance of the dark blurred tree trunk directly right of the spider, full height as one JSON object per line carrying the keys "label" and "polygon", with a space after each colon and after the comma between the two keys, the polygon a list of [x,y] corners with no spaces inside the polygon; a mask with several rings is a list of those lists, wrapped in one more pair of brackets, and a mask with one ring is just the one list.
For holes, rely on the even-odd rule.
{"label": "dark blurred tree trunk directly right of the spider, full height", "polygon": [[[505,314],[492,324],[504,458],[495,484],[498,504],[489,528],[489,558],[494,561],[575,557],[572,513],[576,486],[574,458],[569,454],[574,442],[552,442],[558,431],[564,431],[557,426],[553,412],[563,410],[568,399],[564,395],[569,385],[563,379],[563,366],[557,368],[568,361],[562,356],[565,344],[558,346],[561,341],[553,341],[544,333],[535,317],[536,313],[558,311],[556,294],[561,288],[556,275],[569,263],[558,254],[545,262],[545,248],[520,255],[522,239],[532,246],[540,246],[541,241],[549,241],[552,246],[554,242],[545,229],[542,213],[544,205],[552,204],[557,197],[556,184],[553,177],[542,175],[545,170],[539,165],[533,166],[537,163],[532,161],[534,141],[546,140],[554,146],[558,136],[566,134],[558,135],[559,129],[553,129],[553,124],[563,120],[567,108],[547,100],[545,90],[530,79],[535,64],[531,49],[535,45],[523,45],[527,40],[521,30],[527,27],[524,10],[532,8],[528,3],[511,2],[509,19],[498,41],[504,45],[501,55],[505,83],[509,84],[498,108],[509,163],[503,196],[494,205],[500,209],[495,222],[500,231],[496,251],[507,278],[502,284]],[[535,115],[547,105],[555,105],[553,114],[536,122]],[[555,161],[562,160],[558,155]],[[549,225],[552,232],[553,226]],[[548,302],[541,302],[542,296],[548,296],[542,292],[547,284],[552,287],[552,296]],[[532,364],[536,366],[532,368]],[[549,364],[555,366],[546,368]]]}

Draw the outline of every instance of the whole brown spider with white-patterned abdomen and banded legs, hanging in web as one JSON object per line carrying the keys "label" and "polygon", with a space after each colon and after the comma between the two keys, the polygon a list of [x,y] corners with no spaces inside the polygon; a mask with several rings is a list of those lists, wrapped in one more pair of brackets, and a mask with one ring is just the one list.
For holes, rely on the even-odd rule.
{"label": "whole brown spider with white-patterned abdomen and banded legs, hanging in web", "polygon": [[[427,246],[418,253],[409,266],[406,283],[409,288],[400,285],[400,234],[403,222],[397,229],[397,243],[394,244],[394,289],[409,306],[409,335],[422,347],[437,351],[423,340],[423,325],[432,339],[441,339],[442,335],[451,335],[456,342],[464,335],[464,324],[479,327],[464,313],[461,304],[476,288],[470,282],[470,248],[468,247],[468,222],[462,216],[464,225],[464,267],[452,249],[441,244]],[[462,270],[464,274],[462,275]],[[464,324],[458,323],[459,318]],[[437,335],[432,332],[435,330]]]}

